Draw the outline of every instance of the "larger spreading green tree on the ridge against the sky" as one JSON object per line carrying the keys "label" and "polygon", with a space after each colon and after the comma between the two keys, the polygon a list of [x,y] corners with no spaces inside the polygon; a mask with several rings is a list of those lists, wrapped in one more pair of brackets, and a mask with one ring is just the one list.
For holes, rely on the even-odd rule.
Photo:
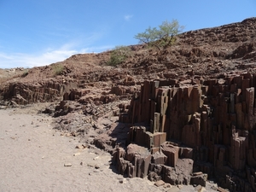
{"label": "larger spreading green tree on the ridge against the sky", "polygon": [[180,26],[177,20],[164,21],[159,29],[150,26],[145,32],[138,33],[134,38],[139,40],[140,44],[148,44],[149,47],[155,47],[157,49],[166,49],[175,43],[175,36],[183,31],[183,26]]}

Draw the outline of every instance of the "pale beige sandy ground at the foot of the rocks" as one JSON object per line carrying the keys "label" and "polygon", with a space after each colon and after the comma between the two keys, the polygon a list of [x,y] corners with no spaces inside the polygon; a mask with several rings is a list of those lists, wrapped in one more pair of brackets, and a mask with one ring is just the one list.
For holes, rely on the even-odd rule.
{"label": "pale beige sandy ground at the foot of the rocks", "polygon": [[0,191],[177,191],[122,177],[111,168],[110,154],[76,148],[79,140],[61,137],[52,119],[36,112],[0,110]]}

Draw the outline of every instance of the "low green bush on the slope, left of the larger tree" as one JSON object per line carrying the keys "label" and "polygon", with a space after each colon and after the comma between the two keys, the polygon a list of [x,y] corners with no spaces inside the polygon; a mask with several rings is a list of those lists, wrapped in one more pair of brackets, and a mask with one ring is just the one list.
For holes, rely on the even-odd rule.
{"label": "low green bush on the slope, left of the larger tree", "polygon": [[117,66],[131,56],[131,48],[127,46],[116,46],[111,54],[107,64],[109,66]]}

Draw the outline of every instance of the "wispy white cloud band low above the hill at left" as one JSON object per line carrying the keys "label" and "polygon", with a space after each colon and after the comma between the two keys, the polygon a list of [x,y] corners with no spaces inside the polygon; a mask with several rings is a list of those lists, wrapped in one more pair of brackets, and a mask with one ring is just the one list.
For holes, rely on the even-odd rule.
{"label": "wispy white cloud band low above the hill at left", "polygon": [[93,46],[93,44],[102,38],[102,32],[95,32],[88,36],[78,36],[69,41],[68,44],[62,44],[56,48],[47,48],[37,53],[6,53],[0,49],[0,68],[12,67],[40,67],[46,66],[58,61],[64,61],[68,57],[79,53],[99,53],[113,46]]}

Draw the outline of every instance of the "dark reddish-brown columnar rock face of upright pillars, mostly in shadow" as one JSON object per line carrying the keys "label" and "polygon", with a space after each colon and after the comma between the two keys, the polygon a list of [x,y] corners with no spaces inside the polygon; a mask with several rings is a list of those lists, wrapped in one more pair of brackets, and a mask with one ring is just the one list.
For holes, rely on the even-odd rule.
{"label": "dark reddish-brown columnar rock face of upright pillars, mostly in shadow", "polygon": [[[179,83],[145,81],[141,93],[133,97],[128,113],[121,114],[120,120],[148,126],[132,126],[128,142],[146,146],[152,154],[160,151],[167,157],[166,165],[172,167],[185,154],[209,176],[214,170],[225,188],[253,191],[255,82],[256,75],[251,73]],[[159,135],[159,139],[153,139]],[[172,145],[163,146],[165,139]]]}

